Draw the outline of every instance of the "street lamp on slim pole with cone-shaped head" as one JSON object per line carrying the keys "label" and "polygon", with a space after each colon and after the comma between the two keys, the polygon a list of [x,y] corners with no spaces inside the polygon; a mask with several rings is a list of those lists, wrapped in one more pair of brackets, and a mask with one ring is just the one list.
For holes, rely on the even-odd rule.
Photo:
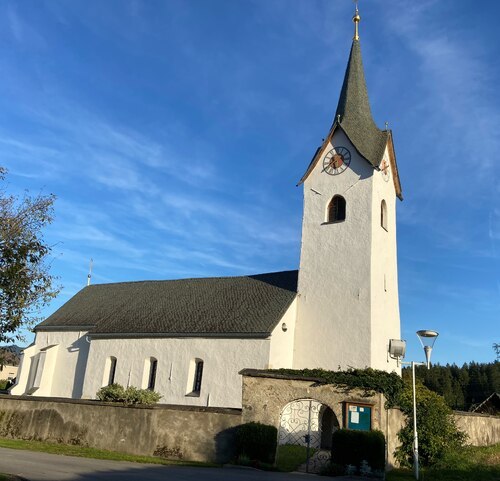
{"label": "street lamp on slim pole with cone-shaped head", "polygon": [[398,366],[399,364],[411,366],[412,375],[412,385],[413,385],[413,465],[415,468],[415,479],[418,480],[419,475],[419,465],[418,465],[418,433],[417,433],[417,392],[415,389],[415,366],[427,366],[427,369],[431,367],[431,354],[434,343],[436,342],[438,332],[424,329],[417,331],[417,337],[422,344],[425,352],[426,362],[405,362],[402,359],[406,352],[406,341],[401,339],[390,339],[389,340],[389,355],[392,359],[396,359]]}

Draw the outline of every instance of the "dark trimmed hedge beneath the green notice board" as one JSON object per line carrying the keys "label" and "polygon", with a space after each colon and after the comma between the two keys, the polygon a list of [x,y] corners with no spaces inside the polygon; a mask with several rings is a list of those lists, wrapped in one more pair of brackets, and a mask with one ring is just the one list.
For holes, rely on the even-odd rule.
{"label": "dark trimmed hedge beneath the green notice board", "polygon": [[332,463],[358,469],[366,461],[373,470],[385,469],[385,437],[381,431],[339,429],[332,437]]}

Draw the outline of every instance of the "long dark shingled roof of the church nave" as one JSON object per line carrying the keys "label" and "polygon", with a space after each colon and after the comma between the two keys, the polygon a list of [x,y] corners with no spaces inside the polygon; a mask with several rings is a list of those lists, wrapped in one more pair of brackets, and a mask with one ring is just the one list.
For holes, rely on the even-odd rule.
{"label": "long dark shingled roof of the church nave", "polygon": [[298,271],[85,287],[36,329],[91,335],[267,337],[297,293]]}

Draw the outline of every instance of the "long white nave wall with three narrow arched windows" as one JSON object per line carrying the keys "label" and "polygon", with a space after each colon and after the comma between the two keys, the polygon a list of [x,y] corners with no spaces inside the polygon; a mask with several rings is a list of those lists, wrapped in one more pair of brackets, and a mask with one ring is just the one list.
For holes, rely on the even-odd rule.
{"label": "long white nave wall with three narrow arched windows", "polygon": [[[269,364],[269,339],[93,339],[90,344],[84,398],[95,398],[102,387],[106,359],[117,359],[115,382],[143,385],[144,360],[158,360],[155,391],[161,403],[194,406],[241,407],[244,368],[265,369]],[[199,396],[187,395],[192,360],[204,362]]]}

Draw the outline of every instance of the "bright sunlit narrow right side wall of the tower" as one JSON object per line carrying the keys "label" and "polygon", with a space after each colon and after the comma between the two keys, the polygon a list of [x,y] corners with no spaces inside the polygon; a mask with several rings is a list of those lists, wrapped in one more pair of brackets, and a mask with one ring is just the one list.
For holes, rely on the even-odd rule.
{"label": "bright sunlit narrow right side wall of the tower", "polygon": [[[389,169],[387,181],[382,172],[373,174],[373,215],[371,252],[371,366],[376,369],[401,372],[396,361],[387,359],[389,339],[400,339],[398,268],[396,243],[396,198],[394,172],[391,170],[389,151],[384,161]],[[387,230],[381,226],[382,200],[387,205]]]}

